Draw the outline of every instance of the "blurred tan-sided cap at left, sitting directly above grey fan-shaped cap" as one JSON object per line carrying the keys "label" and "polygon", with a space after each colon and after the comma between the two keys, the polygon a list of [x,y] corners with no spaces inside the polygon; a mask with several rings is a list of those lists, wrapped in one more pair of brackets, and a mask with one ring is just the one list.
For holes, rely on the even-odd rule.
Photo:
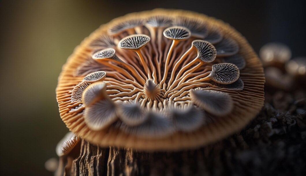
{"label": "blurred tan-sided cap at left, sitting directly above grey fan-shaped cap", "polygon": [[106,84],[104,82],[95,82],[89,85],[82,94],[82,102],[85,106],[107,98]]}

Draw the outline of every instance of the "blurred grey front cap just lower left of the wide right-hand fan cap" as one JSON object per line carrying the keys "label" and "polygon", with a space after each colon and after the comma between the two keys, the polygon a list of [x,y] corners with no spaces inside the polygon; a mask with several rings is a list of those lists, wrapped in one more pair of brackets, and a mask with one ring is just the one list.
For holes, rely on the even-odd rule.
{"label": "blurred grey front cap just lower left of the wide right-hand fan cap", "polygon": [[172,107],[166,112],[178,131],[191,132],[205,123],[205,114],[194,105]]}

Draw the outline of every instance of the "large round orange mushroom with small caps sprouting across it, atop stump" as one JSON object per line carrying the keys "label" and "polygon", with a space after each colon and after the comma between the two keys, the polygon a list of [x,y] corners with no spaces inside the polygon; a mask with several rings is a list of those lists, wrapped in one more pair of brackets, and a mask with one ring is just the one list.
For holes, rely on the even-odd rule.
{"label": "large round orange mushroom with small caps sprouting across it, atop stump", "polygon": [[228,24],[155,9],[86,38],[56,89],[62,120],[100,146],[175,150],[243,128],[264,102],[263,67]]}

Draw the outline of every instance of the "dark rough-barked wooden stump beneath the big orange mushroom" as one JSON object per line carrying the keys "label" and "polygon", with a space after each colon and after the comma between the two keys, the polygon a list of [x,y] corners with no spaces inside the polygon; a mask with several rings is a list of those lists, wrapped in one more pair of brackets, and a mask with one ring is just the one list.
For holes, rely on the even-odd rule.
{"label": "dark rough-barked wooden stump beneath the big orange mushroom", "polygon": [[146,153],[83,140],[79,156],[61,158],[65,169],[56,175],[304,175],[305,94],[266,92],[263,110],[244,130],[197,150]]}

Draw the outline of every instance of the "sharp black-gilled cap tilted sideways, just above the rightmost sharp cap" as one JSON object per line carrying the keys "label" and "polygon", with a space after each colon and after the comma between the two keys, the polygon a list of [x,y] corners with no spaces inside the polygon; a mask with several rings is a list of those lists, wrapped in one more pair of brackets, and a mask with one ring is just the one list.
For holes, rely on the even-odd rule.
{"label": "sharp black-gilled cap tilted sideways, just above the rightmost sharp cap", "polygon": [[192,41],[192,46],[197,49],[197,58],[203,63],[211,63],[216,59],[217,51],[214,45],[204,40]]}

